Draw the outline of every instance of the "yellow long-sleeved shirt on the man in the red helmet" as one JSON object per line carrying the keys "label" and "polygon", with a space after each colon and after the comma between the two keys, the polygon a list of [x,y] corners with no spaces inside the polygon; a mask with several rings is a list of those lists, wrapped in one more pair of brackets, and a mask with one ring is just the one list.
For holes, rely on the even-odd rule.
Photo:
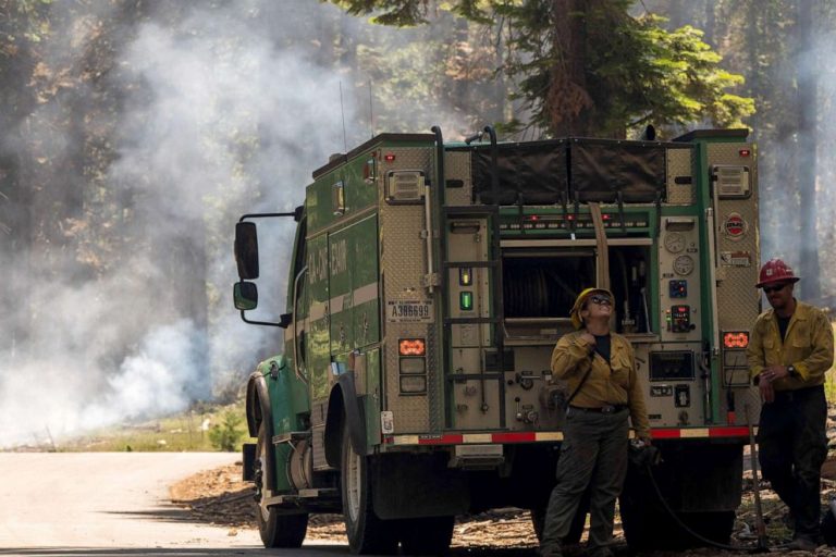
{"label": "yellow long-sleeved shirt on the man in the red helmet", "polygon": [[824,311],[796,300],[796,311],[780,339],[775,310],[770,309],[754,322],[746,350],[752,377],[767,366],[794,366],[797,377],[782,377],[773,383],[775,391],[792,391],[824,383],[824,372],[833,366],[833,326]]}

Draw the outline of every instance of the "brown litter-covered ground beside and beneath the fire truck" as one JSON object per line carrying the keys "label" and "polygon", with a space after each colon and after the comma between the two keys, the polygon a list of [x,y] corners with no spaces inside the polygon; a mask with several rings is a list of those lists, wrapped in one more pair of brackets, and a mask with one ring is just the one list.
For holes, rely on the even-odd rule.
{"label": "brown litter-covered ground beside and beneath the fire truck", "polygon": [[[171,487],[171,497],[175,504],[190,508],[202,520],[210,523],[229,525],[231,531],[236,529],[255,528],[255,507],[251,484],[241,480],[241,466],[228,466],[202,472],[187,478]],[[828,500],[831,494],[836,494],[836,459],[828,461],[823,469],[823,500]],[[755,512],[751,474],[745,481],[743,503],[735,524],[733,544],[736,546],[754,547]],[[790,534],[784,527],[784,505],[769,490],[769,484],[762,484],[761,499],[763,502],[764,521],[767,525],[770,544],[777,545]],[[616,519],[617,520],[617,519]],[[628,555],[624,544],[620,524],[616,523],[616,539],[619,541],[618,555]],[[308,528],[308,540],[330,540],[347,543],[342,517],[337,515],[314,515]],[[470,548],[518,548],[529,549],[529,555],[537,546],[537,537],[531,528],[528,511],[519,509],[500,509],[481,515],[457,519],[453,534],[454,547]],[[806,553],[773,549],[773,555],[810,555]],[[577,552],[576,552],[577,554]],[[817,555],[836,557],[836,548],[822,546]],[[733,556],[740,553],[722,552],[713,548],[692,549],[688,552],[656,552],[649,557],[671,555]]]}

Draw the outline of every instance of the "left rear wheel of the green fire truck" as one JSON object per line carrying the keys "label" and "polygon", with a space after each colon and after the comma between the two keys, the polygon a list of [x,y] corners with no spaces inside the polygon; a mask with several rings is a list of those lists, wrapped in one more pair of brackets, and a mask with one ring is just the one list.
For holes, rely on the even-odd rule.
{"label": "left rear wheel of the green fire truck", "polygon": [[382,520],[374,513],[372,483],[369,459],[355,453],[346,423],[343,426],[341,485],[348,547],[358,555],[391,555],[397,550],[397,529],[395,521]]}

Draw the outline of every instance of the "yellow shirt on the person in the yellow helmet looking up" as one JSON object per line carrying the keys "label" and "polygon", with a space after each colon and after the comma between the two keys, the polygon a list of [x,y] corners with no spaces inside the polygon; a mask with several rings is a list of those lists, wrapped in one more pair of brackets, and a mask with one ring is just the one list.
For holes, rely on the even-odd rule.
{"label": "yellow shirt on the person in the yellow helmet looking up", "polygon": [[[636,374],[636,352],[627,338],[611,333],[610,363],[600,355],[590,356],[592,343],[581,338],[586,331],[568,333],[557,341],[552,351],[552,373],[568,383],[567,396],[575,393],[587,370],[589,377],[571,399],[573,406],[585,408],[627,405],[636,434],[650,437],[650,422],[644,395]],[[611,366],[612,364],[612,366]]]}

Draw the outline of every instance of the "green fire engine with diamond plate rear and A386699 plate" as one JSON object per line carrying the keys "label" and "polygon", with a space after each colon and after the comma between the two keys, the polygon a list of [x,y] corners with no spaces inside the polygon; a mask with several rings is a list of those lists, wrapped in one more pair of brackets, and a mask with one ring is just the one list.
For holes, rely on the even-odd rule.
{"label": "green fire engine with diamond plate rear and A386699 plate", "polygon": [[[235,307],[283,332],[247,387],[265,546],[300,545],[312,512],[342,512],[357,554],[440,554],[455,516],[497,507],[530,509],[539,531],[565,389],[550,357],[588,286],[615,295],[663,459],[652,478],[628,474],[628,543],[689,540],[665,506],[728,541],[760,410],[745,356],[760,308],[747,137],[382,134],[316,170],[295,211],[242,216]],[[256,223],[284,216],[286,313],[253,321]]]}

